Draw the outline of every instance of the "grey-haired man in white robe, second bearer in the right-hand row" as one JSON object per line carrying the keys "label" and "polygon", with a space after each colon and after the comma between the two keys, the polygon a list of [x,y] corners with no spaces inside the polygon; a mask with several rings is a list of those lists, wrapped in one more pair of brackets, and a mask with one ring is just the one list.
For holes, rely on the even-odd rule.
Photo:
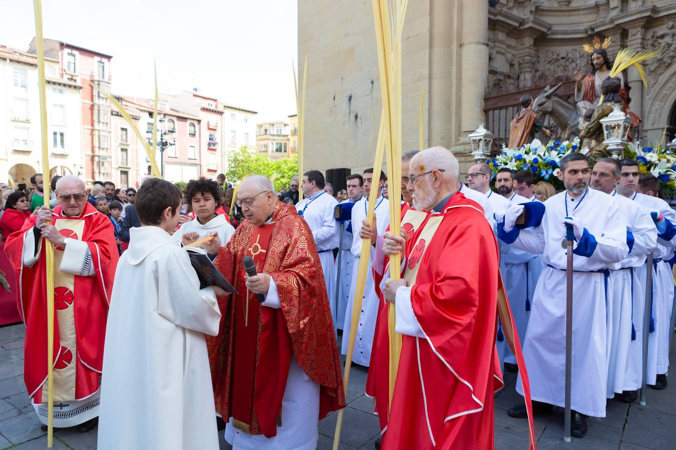
{"label": "grey-haired man in white robe, second bearer in the right-hand row", "polygon": [[[646,264],[646,257],[657,245],[657,229],[650,211],[637,202],[617,194],[620,179],[617,159],[603,158],[592,169],[592,188],[617,198],[627,219],[629,254],[621,262],[608,264],[608,302],[606,303],[606,364],[608,398],[618,395],[631,403],[641,387],[643,354],[643,311],[645,291],[635,271]],[[612,295],[610,293],[612,292]],[[625,389],[629,386],[630,389]]]}

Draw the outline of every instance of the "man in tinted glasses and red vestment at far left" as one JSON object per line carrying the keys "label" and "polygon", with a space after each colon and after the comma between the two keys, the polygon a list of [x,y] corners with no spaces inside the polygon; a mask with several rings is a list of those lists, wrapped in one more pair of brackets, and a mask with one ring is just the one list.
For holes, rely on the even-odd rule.
{"label": "man in tinted glasses and red vestment at far left", "polygon": [[[74,175],[57,181],[59,206],[42,206],[5,252],[16,271],[19,311],[26,324],[24,381],[38,418],[47,424],[47,303],[45,245],[54,247],[54,426],[96,424],[103,338],[118,249],[113,224],[87,202]],[[43,239],[44,238],[44,239]]]}

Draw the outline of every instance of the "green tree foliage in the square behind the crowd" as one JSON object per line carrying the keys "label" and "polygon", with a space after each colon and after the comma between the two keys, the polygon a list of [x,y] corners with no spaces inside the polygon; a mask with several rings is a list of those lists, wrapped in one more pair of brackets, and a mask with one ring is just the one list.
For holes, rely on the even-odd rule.
{"label": "green tree foliage in the square behind the crowd", "polygon": [[231,183],[239,184],[249,175],[265,175],[272,180],[275,191],[285,191],[297,174],[297,157],[272,160],[266,154],[258,154],[255,148],[241,146],[228,155],[225,177]]}

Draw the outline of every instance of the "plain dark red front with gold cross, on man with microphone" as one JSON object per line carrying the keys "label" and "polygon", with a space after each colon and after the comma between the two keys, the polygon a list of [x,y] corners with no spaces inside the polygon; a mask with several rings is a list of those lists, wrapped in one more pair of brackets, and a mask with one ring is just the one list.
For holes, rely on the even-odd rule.
{"label": "plain dark red front with gold cross, on man with microphone", "polygon": [[[253,227],[249,247],[256,272],[262,273],[274,224]],[[281,403],[291,364],[291,340],[281,309],[264,308],[256,295],[245,287],[245,271],[237,276],[235,302],[235,366],[233,373],[233,426],[251,433],[260,426],[266,436],[281,426]],[[261,343],[265,343],[261,345]],[[265,383],[256,375],[265,374]],[[258,382],[257,382],[258,381]],[[279,407],[270,407],[279,405]]]}

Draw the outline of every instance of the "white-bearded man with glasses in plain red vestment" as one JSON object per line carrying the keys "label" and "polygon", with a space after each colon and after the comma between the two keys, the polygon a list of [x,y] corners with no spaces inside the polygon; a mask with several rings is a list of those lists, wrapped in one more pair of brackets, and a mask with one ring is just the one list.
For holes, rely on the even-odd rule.
{"label": "white-bearded man with glasses in plain red vestment", "polygon": [[[395,304],[396,331],[403,335],[383,434],[387,450],[493,449],[493,393],[503,386],[498,312],[520,348],[500,284],[495,236],[481,206],[457,186],[458,161],[448,150],[416,154],[408,188],[414,208],[430,214],[411,235],[386,233],[385,253],[404,257],[402,280],[388,280],[382,289]],[[523,356],[516,355],[527,378]]]}

